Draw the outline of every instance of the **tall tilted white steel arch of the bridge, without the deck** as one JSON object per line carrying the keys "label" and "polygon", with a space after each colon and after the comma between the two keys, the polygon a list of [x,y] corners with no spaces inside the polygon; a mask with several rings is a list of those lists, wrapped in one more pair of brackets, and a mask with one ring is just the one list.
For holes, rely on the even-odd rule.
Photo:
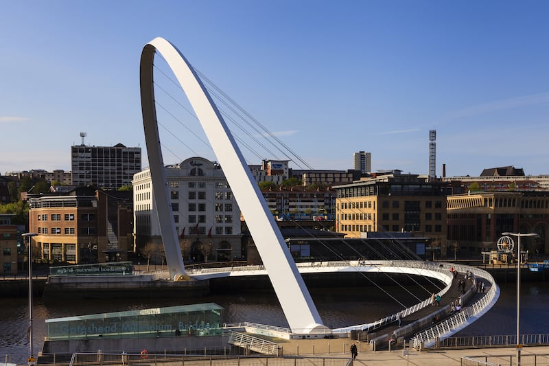
{"label": "tall tilted white steel arch of the bridge, without the deck", "polygon": [[154,38],[141,53],[141,110],[147,146],[153,199],[159,213],[166,262],[172,278],[185,274],[167,187],[153,88],[153,60],[159,52],[170,66],[194,108],[211,147],[220,162],[236,201],[246,219],[257,251],[267,270],[290,328],[309,333],[325,330],[309,290],[303,282],[267,203],[246,165],[233,135],[193,67],[172,43]]}

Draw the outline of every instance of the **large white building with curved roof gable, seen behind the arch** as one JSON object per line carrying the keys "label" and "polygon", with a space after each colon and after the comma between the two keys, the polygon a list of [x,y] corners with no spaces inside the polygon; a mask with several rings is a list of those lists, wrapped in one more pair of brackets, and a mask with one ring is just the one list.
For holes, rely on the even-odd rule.
{"label": "large white building with curved roof gable, seen behind the arch", "polygon": [[[185,262],[240,258],[240,209],[221,166],[192,157],[167,165],[165,173]],[[149,168],[135,174],[132,185],[135,247],[139,252],[147,242],[161,242]]]}

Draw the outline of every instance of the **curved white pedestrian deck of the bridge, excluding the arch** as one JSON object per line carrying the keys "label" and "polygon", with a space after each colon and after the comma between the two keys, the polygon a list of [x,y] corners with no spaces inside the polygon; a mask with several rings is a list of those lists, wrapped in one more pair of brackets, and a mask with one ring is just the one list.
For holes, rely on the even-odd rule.
{"label": "curved white pedestrian deck of the bridge, excluding the arch", "polygon": [[[431,347],[437,341],[456,334],[480,318],[495,304],[500,295],[500,289],[491,274],[474,266],[416,260],[303,262],[297,263],[296,266],[300,273],[401,273],[430,277],[445,284],[445,287],[437,293],[441,295],[440,306],[432,307],[430,298],[427,298],[402,310],[400,327],[397,325],[397,314],[389,314],[371,323],[349,325],[332,330],[317,330],[309,333],[309,336],[349,336],[353,331],[360,331],[377,334],[373,339],[381,345],[384,345],[391,336],[399,339],[412,336],[414,347]],[[464,278],[467,271],[471,273],[470,279],[466,282],[465,293],[461,293],[458,288],[458,283],[450,271],[451,268],[458,271],[458,278]],[[195,279],[268,275],[266,268],[262,265],[198,268],[187,273]],[[476,281],[483,281],[487,285],[484,293],[477,292]],[[452,302],[457,302],[459,299],[463,302],[463,309],[460,312],[452,312]],[[441,320],[433,323],[434,317],[439,317]],[[301,338],[303,334],[301,329],[252,323],[239,323],[227,327],[288,339]]]}

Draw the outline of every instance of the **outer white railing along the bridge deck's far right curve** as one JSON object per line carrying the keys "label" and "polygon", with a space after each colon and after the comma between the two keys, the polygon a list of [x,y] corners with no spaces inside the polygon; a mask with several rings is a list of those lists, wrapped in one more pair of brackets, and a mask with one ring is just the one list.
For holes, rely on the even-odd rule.
{"label": "outer white railing along the bridge deck's far right curve", "polygon": [[414,348],[432,347],[435,345],[437,340],[440,341],[441,339],[451,336],[452,334],[458,332],[458,330],[465,328],[465,326],[472,321],[478,319],[480,315],[487,312],[489,308],[495,304],[495,301],[498,300],[498,297],[500,296],[500,288],[498,288],[498,285],[495,284],[495,280],[490,273],[480,268],[470,266],[454,265],[454,268],[456,271],[461,273],[471,271],[476,280],[480,280],[481,278],[487,280],[490,284],[490,289],[484,296],[482,296],[471,306],[467,306],[460,312],[454,314],[452,317],[433,325],[427,330],[423,330],[423,332],[415,334],[412,339],[412,345]]}

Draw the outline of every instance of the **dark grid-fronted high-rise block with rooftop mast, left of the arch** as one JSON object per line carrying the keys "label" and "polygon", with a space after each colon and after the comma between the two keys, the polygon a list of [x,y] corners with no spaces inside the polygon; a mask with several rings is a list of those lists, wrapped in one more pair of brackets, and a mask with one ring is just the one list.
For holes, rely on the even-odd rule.
{"label": "dark grid-fronted high-rise block with rooftop mast, left of the arch", "polygon": [[141,148],[115,146],[71,147],[72,184],[117,190],[130,185],[133,174],[141,171]]}

